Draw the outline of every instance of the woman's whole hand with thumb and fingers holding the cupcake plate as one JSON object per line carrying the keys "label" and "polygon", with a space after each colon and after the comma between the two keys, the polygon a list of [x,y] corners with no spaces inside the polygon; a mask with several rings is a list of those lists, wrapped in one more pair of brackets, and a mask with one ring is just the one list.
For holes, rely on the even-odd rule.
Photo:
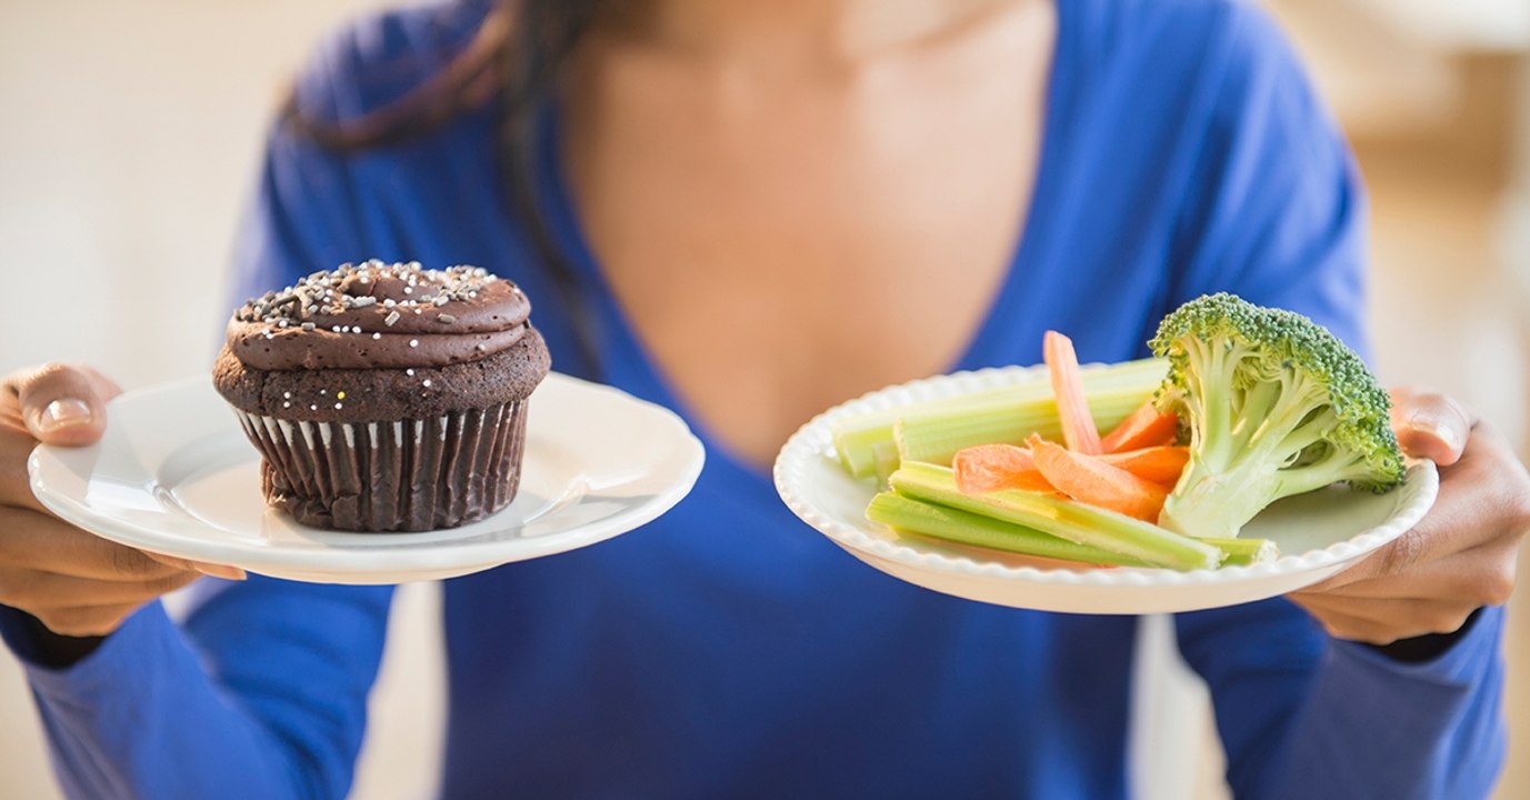
{"label": "woman's whole hand with thumb and fingers holding the cupcake plate", "polygon": [[26,459],[38,444],[81,447],[106,430],[121,393],[90,367],[46,364],[0,379],[0,604],[64,636],[106,636],[145,603],[202,575],[243,571],[124,548],[52,515],[32,496]]}

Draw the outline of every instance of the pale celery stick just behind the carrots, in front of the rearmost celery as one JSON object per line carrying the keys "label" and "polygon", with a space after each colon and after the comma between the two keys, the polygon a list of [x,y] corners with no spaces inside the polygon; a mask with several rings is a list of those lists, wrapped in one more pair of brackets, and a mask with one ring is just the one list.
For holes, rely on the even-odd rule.
{"label": "pale celery stick just behind the carrots, in front of the rearmost celery", "polygon": [[[1154,384],[1157,389],[1158,384]],[[1131,416],[1152,390],[1131,389],[1089,395],[1089,415],[1102,431],[1109,431]],[[1008,404],[1001,413],[987,410],[961,416],[924,416],[900,419],[894,425],[900,460],[947,465],[964,447],[994,442],[1017,445],[1031,433],[1043,439],[1060,441],[1062,424],[1057,419],[1057,402],[1040,398],[1024,404]]]}

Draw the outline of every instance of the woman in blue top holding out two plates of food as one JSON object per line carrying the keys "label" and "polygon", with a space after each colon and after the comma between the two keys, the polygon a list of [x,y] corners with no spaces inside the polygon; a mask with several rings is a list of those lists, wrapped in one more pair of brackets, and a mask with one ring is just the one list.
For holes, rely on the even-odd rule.
{"label": "woman in blue top holding out two plates of food", "polygon": [[[797,523],[765,467],[846,396],[1140,355],[1226,289],[1357,343],[1360,187],[1271,24],[1219,0],[506,2],[327,46],[272,133],[240,295],[344,260],[471,262],[557,369],[679,408],[692,497],[598,548],[447,581],[447,797],[1120,797],[1135,621],[964,603]],[[46,515],[34,441],[92,370],[11,378],[0,632],[78,797],[343,795],[386,587],[205,581]],[[1435,509],[1290,598],[1181,615],[1247,797],[1475,797],[1530,480],[1401,396]],[[80,638],[75,638],[80,636]]]}

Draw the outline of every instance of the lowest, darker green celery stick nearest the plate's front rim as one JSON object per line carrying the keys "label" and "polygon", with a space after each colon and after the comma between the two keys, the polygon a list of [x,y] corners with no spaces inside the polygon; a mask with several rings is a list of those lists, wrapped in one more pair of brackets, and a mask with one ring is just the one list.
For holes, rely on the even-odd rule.
{"label": "lowest, darker green celery stick nearest the plate's front rim", "polygon": [[1083,561],[1088,564],[1148,566],[1131,555],[1079,545],[1024,525],[981,517],[890,491],[871,499],[871,505],[866,506],[866,519],[912,534],[1017,552],[1021,555],[1039,555],[1042,558]]}

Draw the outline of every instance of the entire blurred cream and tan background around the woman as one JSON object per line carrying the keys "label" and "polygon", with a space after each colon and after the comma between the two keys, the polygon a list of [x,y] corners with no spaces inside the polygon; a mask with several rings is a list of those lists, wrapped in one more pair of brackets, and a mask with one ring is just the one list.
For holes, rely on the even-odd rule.
{"label": "entire blurred cream and tan background around the woman", "polygon": [[[81,359],[129,389],[205,372],[269,115],[324,31],[387,5],[0,0],[0,274],[12,298],[0,314],[0,372]],[[1371,188],[1383,381],[1464,398],[1530,454],[1530,3],[1265,5]],[[161,300],[144,303],[150,292]],[[435,785],[438,609],[430,584],[405,587],[395,606],[358,798],[427,797]],[[1522,587],[1507,647],[1519,736],[1504,800],[1530,797],[1525,612]],[[1204,694],[1170,646],[1149,652],[1158,655],[1141,685],[1163,724],[1135,728],[1154,731],[1135,751],[1141,797],[1227,797]],[[0,797],[58,797],[3,650],[0,720]]]}

